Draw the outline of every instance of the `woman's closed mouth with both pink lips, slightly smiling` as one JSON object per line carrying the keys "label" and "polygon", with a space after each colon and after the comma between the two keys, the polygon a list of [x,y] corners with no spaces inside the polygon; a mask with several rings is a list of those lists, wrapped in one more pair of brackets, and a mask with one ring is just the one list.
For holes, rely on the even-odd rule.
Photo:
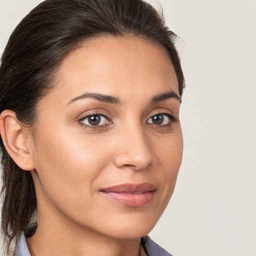
{"label": "woman's closed mouth with both pink lips, slightly smiling", "polygon": [[149,203],[155,191],[155,186],[150,183],[125,183],[100,190],[108,199],[129,207],[140,207]]}

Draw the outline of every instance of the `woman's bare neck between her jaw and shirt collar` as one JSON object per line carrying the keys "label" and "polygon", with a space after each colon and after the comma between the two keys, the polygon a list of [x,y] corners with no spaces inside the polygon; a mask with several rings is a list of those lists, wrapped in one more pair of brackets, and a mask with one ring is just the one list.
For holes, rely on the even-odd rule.
{"label": "woman's bare neck between her jaw and shirt collar", "polygon": [[31,256],[139,255],[140,238],[109,237],[63,215],[58,214],[57,218],[54,215],[45,216],[38,208],[38,227],[35,234],[26,239]]}

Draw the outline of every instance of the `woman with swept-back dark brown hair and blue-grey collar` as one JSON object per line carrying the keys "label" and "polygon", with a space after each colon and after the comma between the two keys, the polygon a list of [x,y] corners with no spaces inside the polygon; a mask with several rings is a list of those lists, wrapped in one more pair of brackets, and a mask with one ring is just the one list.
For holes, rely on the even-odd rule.
{"label": "woman with swept-back dark brown hair and blue-grey collar", "polygon": [[0,67],[6,253],[169,255],[145,235],[182,158],[174,39],[141,0],[46,0],[15,28]]}

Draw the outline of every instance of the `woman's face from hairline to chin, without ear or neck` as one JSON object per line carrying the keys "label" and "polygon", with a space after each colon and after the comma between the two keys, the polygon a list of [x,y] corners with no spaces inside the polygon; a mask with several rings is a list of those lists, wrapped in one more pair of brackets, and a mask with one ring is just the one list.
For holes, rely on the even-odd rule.
{"label": "woman's face from hairline to chin, without ear or neck", "polygon": [[156,44],[99,37],[70,53],[37,107],[38,216],[113,237],[148,233],[181,163],[179,105],[173,66]]}

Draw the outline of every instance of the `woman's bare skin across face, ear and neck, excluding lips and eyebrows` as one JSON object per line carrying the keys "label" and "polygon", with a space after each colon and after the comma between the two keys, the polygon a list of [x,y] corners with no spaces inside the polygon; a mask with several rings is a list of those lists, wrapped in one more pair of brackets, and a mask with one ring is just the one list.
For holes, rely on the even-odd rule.
{"label": "woman's bare skin across face, ear and neck, excluding lips and eyebrows", "polygon": [[[151,102],[170,91],[178,95],[165,49],[139,38],[104,36],[84,42],[64,59],[54,88],[38,103],[33,131],[22,127],[10,110],[1,115],[6,148],[13,141],[12,158],[31,170],[35,184],[38,228],[27,238],[32,256],[138,255],[140,237],[165,209],[181,164],[180,101]],[[118,102],[73,100],[88,92]],[[159,113],[166,113],[163,124],[152,122]],[[89,114],[105,117],[92,128]],[[100,192],[144,182],[156,192],[140,207]]]}

